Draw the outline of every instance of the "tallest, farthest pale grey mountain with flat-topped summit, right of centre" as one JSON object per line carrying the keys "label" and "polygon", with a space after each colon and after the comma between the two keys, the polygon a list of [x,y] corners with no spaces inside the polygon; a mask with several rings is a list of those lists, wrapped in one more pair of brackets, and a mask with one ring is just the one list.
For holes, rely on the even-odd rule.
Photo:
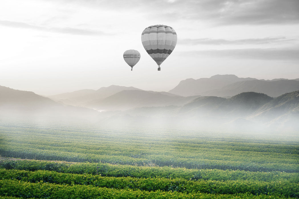
{"label": "tallest, farthest pale grey mountain with flat-topped summit, right of centre", "polygon": [[[210,78],[200,79],[186,79],[183,80],[172,90],[170,93],[191,96],[191,95],[202,95],[203,92],[207,92],[214,89],[221,89],[223,86],[232,84],[238,81],[257,80],[255,78],[239,78],[236,75],[214,75]],[[231,95],[229,95],[231,96]]]}

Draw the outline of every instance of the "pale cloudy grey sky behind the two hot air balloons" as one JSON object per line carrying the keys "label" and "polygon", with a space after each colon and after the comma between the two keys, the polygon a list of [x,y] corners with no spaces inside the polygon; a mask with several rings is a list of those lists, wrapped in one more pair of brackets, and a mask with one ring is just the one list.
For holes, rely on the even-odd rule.
{"label": "pale cloudy grey sky behind the two hot air balloons", "polygon": [[[156,24],[178,41],[157,64],[141,43]],[[126,50],[140,61],[129,67]],[[298,0],[0,0],[0,85],[39,95],[120,85],[169,91],[234,74],[299,78]]]}

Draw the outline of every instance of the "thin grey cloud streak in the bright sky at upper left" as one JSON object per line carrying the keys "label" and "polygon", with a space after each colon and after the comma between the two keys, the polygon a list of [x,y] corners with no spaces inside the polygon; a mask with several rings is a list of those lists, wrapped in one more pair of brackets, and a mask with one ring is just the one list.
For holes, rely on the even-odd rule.
{"label": "thin grey cloud streak in the bright sky at upper left", "polygon": [[101,31],[95,30],[86,30],[86,29],[79,29],[79,28],[71,28],[71,27],[43,27],[43,26],[35,26],[30,25],[23,22],[16,22],[16,21],[5,21],[0,20],[0,25],[7,26],[7,27],[14,27],[14,28],[25,28],[31,30],[40,30],[46,32],[54,32],[54,33],[64,33],[64,34],[72,34],[72,35],[85,35],[85,36],[102,36],[107,35]]}

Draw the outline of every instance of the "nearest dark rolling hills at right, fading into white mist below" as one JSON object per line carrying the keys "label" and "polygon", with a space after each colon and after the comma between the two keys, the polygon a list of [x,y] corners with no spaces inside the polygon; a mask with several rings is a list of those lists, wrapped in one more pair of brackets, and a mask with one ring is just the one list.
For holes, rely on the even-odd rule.
{"label": "nearest dark rolling hills at right, fading into white mist below", "polygon": [[[298,98],[299,91],[286,93],[277,98],[257,92],[243,92],[228,99],[201,96],[181,106],[148,106],[125,110],[106,118],[105,122],[110,124],[137,122],[149,126],[163,123],[185,127],[242,130],[262,130],[270,127],[272,130],[279,128],[299,130]],[[279,125],[279,128],[275,125]]]}

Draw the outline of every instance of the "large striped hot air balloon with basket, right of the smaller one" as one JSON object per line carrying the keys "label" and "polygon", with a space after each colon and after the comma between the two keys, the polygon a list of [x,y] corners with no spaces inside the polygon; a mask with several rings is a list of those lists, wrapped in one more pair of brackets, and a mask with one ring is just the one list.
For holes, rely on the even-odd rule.
{"label": "large striped hot air balloon with basket, right of the smaller one", "polygon": [[141,41],[149,56],[158,64],[158,70],[161,70],[160,65],[176,46],[177,35],[170,26],[154,25],[144,29]]}

